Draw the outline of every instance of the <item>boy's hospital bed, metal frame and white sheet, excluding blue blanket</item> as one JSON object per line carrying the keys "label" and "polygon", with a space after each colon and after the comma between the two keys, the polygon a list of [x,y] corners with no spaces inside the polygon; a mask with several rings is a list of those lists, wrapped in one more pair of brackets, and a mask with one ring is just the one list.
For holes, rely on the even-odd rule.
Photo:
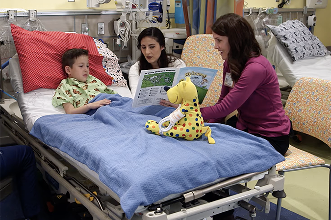
{"label": "boy's hospital bed, metal frame and white sheet, excluding blue blanket", "polygon": [[[17,57],[13,57],[10,60],[9,67],[11,81],[15,87],[15,84],[19,84],[15,81],[17,80],[15,77],[19,76],[19,74],[16,73],[20,72]],[[117,90],[123,96],[130,97],[130,92],[127,87],[111,88]],[[17,88],[15,90],[17,90]],[[63,114],[63,110],[57,111],[55,108],[51,107],[53,92],[53,89],[40,88],[32,92],[18,95],[19,98],[17,102],[13,99],[6,99],[5,103],[1,104],[1,118],[3,119],[4,127],[17,143],[29,145],[34,149],[38,165],[45,170],[43,173],[45,178],[48,182],[52,183],[53,188],[57,188],[58,193],[65,194],[66,191],[69,191],[74,198],[77,198],[77,200],[88,208],[96,219],[108,219],[109,217],[117,220],[125,219],[125,213],[121,208],[119,197],[102,183],[96,172],[90,170],[85,164],[80,163],[70,155],[61,152],[59,149],[46,146],[43,142],[28,133],[37,119],[43,115]],[[25,118],[24,121],[22,120],[23,118]],[[56,154],[54,154],[54,152]],[[94,196],[88,187],[85,187],[77,180],[82,177],[75,178],[69,176],[71,169],[78,170],[80,175],[88,177],[89,180],[98,185],[99,196]],[[264,181],[265,183],[256,186],[253,190],[248,190],[236,185],[239,182],[247,182],[254,179],[261,179],[260,181]],[[169,195],[159,202],[154,202],[153,205],[150,206],[150,209],[145,206],[139,206],[136,210],[136,213],[139,214],[134,215],[133,218],[164,219],[166,216],[167,219],[203,219],[213,214],[238,207],[239,204],[245,206],[246,203],[243,201],[247,202],[252,198],[260,204],[264,204],[266,212],[268,212],[270,208],[269,200],[264,194],[267,192],[281,191],[283,183],[283,177],[275,174],[275,166],[266,171],[263,170],[252,174],[237,175],[232,178],[220,178],[212,181],[211,185],[205,184],[193,191],[188,190],[183,192],[184,194]],[[235,187],[233,186],[233,189],[237,192],[241,192],[234,196],[210,203],[199,200],[199,198],[207,192],[229,188],[231,185],[236,185]],[[87,193],[95,198],[93,202],[82,195]],[[183,208],[181,207],[182,203],[178,201],[182,201],[182,203],[186,205],[190,202],[199,202],[199,204],[191,203],[191,207]],[[169,205],[171,206],[170,211],[167,210]]]}

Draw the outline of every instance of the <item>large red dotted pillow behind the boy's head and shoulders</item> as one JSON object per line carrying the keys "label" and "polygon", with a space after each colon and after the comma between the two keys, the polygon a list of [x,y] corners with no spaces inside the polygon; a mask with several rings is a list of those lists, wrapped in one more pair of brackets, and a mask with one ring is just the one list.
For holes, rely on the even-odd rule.
{"label": "large red dotted pillow behind the boy's head and shoulders", "polygon": [[[89,50],[91,75],[108,86],[119,84],[119,80],[115,79],[122,75],[118,58],[111,51],[112,57],[104,58],[90,36],[55,31],[30,32],[14,24],[11,24],[11,32],[20,61],[24,92],[37,88],[57,88],[61,80],[67,78],[61,66],[62,54],[71,48]],[[106,66],[107,71],[102,65],[104,59],[112,60],[110,67]],[[126,86],[125,80],[120,83]]]}

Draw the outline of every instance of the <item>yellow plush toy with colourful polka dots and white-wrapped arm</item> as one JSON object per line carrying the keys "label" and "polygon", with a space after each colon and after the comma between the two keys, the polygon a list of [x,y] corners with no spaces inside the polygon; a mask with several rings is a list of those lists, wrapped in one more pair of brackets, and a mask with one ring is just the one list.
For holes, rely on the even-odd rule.
{"label": "yellow plush toy with colourful polka dots and white-wrapped arm", "polygon": [[147,130],[154,134],[182,137],[186,140],[195,140],[205,133],[209,144],[215,144],[215,140],[211,137],[211,129],[204,126],[197,89],[191,79],[186,77],[186,80],[180,81],[175,87],[164,89],[167,91],[169,101],[180,105],[159,123],[148,120],[145,124]]}

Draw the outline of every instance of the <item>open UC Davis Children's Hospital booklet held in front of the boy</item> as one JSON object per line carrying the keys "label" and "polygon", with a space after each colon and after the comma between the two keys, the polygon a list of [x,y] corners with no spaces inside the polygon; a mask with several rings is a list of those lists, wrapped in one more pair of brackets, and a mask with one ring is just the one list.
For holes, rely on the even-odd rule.
{"label": "open UC Davis Children's Hospital booklet held in front of the boy", "polygon": [[132,108],[159,105],[160,100],[168,100],[167,92],[163,88],[176,86],[186,76],[190,77],[196,86],[201,104],[216,73],[216,69],[193,66],[143,70],[140,73]]}

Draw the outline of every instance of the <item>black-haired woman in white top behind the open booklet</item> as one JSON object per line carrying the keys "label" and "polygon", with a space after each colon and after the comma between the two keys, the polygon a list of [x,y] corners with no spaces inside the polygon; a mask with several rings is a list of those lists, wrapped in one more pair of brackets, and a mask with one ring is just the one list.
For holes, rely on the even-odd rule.
{"label": "black-haired woman in white top behind the open booklet", "polygon": [[141,50],[141,55],[138,61],[130,67],[128,74],[133,97],[141,70],[186,66],[179,58],[166,53],[163,33],[156,27],[146,28],[139,34],[137,47]]}

